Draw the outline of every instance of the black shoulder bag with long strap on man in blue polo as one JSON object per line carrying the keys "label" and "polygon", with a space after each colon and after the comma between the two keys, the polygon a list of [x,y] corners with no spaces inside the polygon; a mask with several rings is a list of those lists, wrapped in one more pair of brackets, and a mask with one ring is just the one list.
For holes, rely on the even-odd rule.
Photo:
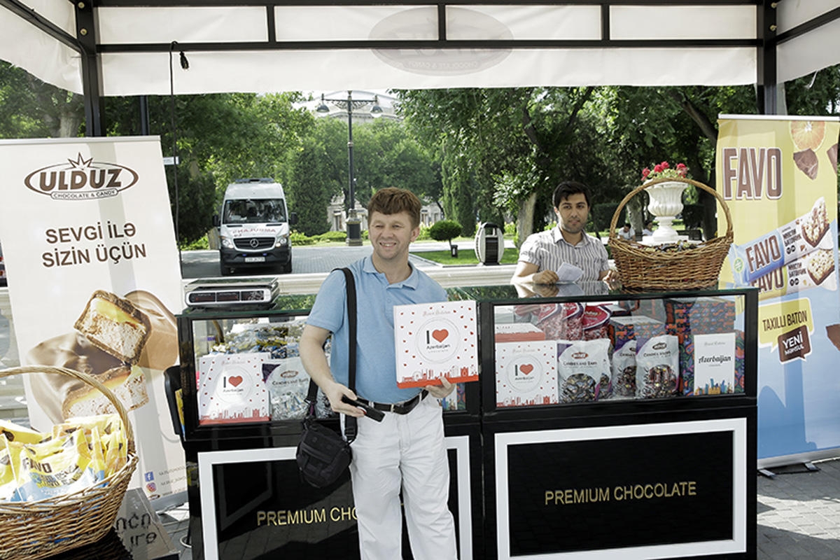
{"label": "black shoulder bag with long strap on man in blue polo", "polygon": [[[349,322],[349,388],[355,390],[356,381],[356,285],[353,273],[341,269],[347,282],[347,318]],[[350,443],[356,438],[356,419],[344,417],[344,435],[324,426],[315,417],[315,403],[318,400],[318,385],[309,380],[307,393],[307,416],[303,419],[301,442],[297,444],[297,468],[307,483],[316,488],[333,484],[350,464],[352,452]]]}

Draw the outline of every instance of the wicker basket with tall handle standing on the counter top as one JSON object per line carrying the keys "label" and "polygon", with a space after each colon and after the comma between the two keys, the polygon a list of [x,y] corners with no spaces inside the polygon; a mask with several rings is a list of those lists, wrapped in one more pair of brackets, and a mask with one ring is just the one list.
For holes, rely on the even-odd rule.
{"label": "wicker basket with tall handle standing on the counter top", "polygon": [[[727,233],[723,237],[700,243],[692,249],[674,252],[653,251],[641,243],[618,238],[616,235],[618,216],[627,201],[647,189],[648,186],[665,181],[687,183],[711,192],[727,215]],[[615,260],[623,287],[630,290],[696,290],[717,285],[723,259],[727,256],[730,244],[732,244],[732,216],[729,214],[726,202],[714,189],[690,179],[657,179],[638,186],[618,204],[610,222],[609,245],[612,249],[612,259]]]}

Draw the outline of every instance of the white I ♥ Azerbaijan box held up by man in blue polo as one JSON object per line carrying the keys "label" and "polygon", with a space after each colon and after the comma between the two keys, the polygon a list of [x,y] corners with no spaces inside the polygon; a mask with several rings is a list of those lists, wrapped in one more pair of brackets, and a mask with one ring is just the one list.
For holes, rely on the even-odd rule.
{"label": "white I \u2665 Azerbaijan box held up by man in blue polo", "polygon": [[398,387],[478,380],[475,301],[394,306],[394,343]]}

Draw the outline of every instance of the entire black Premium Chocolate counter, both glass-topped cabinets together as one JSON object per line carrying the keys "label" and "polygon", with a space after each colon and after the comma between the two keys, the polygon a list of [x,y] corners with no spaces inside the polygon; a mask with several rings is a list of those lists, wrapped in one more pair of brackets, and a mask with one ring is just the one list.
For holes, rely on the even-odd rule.
{"label": "entire black Premium Chocolate counter, both glass-topped cabinets together", "polygon": [[[312,298],[178,317],[195,558],[359,557],[349,477],[294,461]],[[754,290],[449,298],[480,320],[480,381],[443,403],[462,560],[755,556]]]}

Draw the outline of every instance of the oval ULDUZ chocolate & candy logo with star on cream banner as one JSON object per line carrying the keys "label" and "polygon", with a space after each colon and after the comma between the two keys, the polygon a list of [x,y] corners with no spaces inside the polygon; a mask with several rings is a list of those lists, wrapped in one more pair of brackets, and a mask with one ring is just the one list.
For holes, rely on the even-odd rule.
{"label": "oval ULDUZ chocolate & candy logo with star on cream banner", "polygon": [[24,184],[30,191],[55,200],[95,200],[117,196],[134,186],[139,175],[126,167],[85,159],[81,154],[67,163],[47,165],[26,175]]}

